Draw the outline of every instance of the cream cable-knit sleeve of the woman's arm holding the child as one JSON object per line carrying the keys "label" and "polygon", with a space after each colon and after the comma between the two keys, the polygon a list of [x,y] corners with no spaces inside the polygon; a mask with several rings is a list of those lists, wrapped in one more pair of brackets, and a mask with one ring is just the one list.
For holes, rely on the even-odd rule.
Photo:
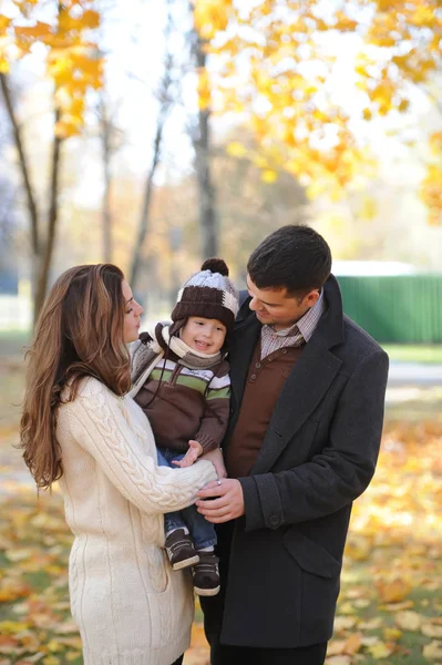
{"label": "cream cable-knit sleeve of the woman's arm holding the child", "polygon": [[[142,451],[119,398],[95,379],[85,381],[75,400],[63,408],[68,409],[70,428],[79,446],[143,512],[182,510],[195,502],[203,485],[217,478],[212,462],[204,460],[186,469],[158,467],[152,454]],[[153,437],[151,429],[146,430]]]}

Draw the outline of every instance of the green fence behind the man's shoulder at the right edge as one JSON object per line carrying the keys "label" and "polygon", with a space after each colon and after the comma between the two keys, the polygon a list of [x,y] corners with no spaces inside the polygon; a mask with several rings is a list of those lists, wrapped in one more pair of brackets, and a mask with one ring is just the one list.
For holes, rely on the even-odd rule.
{"label": "green fence behind the man's shoulder at the right edge", "polygon": [[442,274],[337,278],[345,313],[378,341],[442,344]]}

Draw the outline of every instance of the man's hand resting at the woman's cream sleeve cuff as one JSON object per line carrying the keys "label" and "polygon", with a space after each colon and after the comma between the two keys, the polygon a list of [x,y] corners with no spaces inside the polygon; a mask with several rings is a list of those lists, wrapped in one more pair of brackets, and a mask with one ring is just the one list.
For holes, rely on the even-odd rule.
{"label": "man's hand resting at the woman's cream sleeve cuff", "polygon": [[[235,478],[208,482],[197,492],[197,497],[199,498],[196,502],[198,512],[213,524],[235,520],[245,513],[243,488],[239,480]],[[212,497],[216,499],[204,501]]]}

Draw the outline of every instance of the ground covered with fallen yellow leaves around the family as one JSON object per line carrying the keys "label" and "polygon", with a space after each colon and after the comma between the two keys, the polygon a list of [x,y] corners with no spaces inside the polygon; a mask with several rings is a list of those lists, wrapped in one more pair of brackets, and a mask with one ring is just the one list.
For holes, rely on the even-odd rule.
{"label": "ground covered with fallen yellow leaves around the family", "polygon": [[[12,372],[9,393],[14,381]],[[0,665],[80,665],[62,498],[56,487],[37,498],[16,442],[17,417],[0,413]],[[386,424],[353,510],[328,665],[442,665],[441,447],[438,412]],[[208,663],[201,618],[185,665]]]}

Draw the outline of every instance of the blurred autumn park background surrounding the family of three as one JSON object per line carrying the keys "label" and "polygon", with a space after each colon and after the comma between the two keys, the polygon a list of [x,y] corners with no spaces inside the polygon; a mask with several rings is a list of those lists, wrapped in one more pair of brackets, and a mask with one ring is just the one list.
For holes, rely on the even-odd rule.
{"label": "blurred autumn park background surrounding the family of three", "polygon": [[0,665],[82,663],[62,500],[14,448],[49,286],[112,260],[166,318],[203,258],[243,287],[287,223],[392,360],[327,663],[442,664],[441,39],[436,0],[0,4]]}

